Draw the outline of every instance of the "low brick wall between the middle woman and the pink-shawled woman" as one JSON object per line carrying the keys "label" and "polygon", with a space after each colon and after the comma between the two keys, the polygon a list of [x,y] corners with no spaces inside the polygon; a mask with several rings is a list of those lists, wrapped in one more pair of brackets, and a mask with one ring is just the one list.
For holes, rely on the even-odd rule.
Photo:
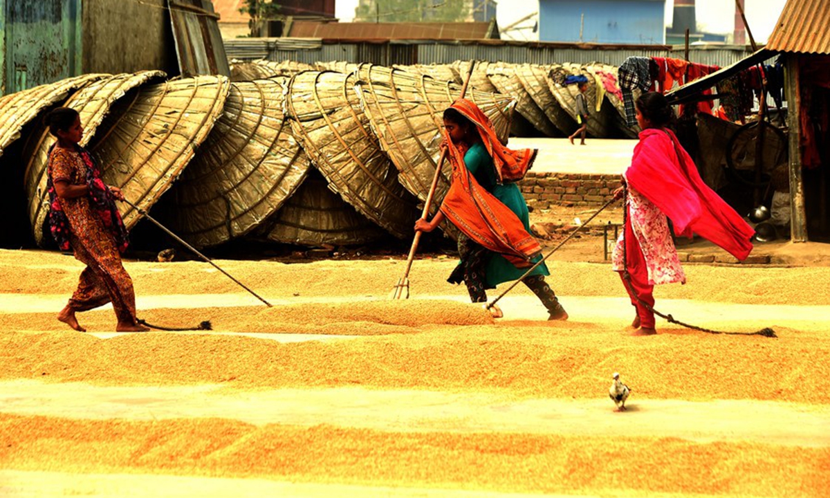
{"label": "low brick wall between the middle woman and the pink-shawled woman", "polygon": [[527,173],[519,182],[527,205],[534,209],[551,206],[602,206],[620,186],[618,174]]}

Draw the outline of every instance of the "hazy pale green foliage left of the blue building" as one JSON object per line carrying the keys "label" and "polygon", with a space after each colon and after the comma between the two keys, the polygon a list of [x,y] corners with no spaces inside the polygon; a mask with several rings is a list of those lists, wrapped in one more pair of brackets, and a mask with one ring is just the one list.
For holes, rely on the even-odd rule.
{"label": "hazy pale green foliage left of the blue building", "polygon": [[357,22],[462,22],[470,0],[374,0],[354,12]]}

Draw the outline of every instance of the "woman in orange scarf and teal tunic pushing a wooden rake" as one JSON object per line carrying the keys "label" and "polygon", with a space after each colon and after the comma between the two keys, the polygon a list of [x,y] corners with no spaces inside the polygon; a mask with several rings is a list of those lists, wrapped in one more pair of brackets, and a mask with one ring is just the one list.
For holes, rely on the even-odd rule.
{"label": "woman in orange scarf and teal tunic pushing a wooden rake", "polygon": [[[486,289],[520,278],[541,258],[542,248],[530,235],[525,198],[515,184],[530,169],[536,150],[507,149],[490,119],[470,100],[456,100],[443,117],[452,184],[432,221],[419,219],[415,230],[432,232],[446,218],[461,231],[461,261],[448,281],[463,281],[472,302],[486,302]],[[567,320],[546,275],[543,263],[525,277],[525,285],[548,310],[548,320]],[[491,312],[502,316],[497,306]]]}

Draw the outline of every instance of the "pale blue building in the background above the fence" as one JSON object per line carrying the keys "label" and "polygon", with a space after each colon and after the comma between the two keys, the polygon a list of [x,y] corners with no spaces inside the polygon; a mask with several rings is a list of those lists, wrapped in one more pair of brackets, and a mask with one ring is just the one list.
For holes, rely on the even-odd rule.
{"label": "pale blue building in the background above the fence", "polygon": [[666,0],[540,0],[539,40],[663,44]]}

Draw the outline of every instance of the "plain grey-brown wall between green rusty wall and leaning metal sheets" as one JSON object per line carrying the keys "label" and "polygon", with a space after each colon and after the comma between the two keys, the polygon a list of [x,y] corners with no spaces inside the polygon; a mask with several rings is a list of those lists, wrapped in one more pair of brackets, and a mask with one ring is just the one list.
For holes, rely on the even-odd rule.
{"label": "plain grey-brown wall between green rusty wall and leaning metal sheets", "polygon": [[[84,0],[83,71],[178,75],[166,0]],[[140,20],[140,22],[134,22]]]}

